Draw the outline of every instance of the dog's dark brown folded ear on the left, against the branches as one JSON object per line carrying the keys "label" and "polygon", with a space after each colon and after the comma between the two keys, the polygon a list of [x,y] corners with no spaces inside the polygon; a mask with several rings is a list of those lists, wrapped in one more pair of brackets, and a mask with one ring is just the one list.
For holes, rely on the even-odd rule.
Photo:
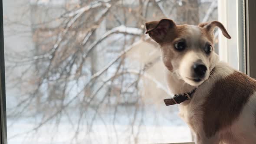
{"label": "dog's dark brown folded ear on the left, against the branches", "polygon": [[173,20],[162,19],[145,23],[146,34],[148,34],[157,43],[162,43],[169,29],[174,28],[176,24]]}

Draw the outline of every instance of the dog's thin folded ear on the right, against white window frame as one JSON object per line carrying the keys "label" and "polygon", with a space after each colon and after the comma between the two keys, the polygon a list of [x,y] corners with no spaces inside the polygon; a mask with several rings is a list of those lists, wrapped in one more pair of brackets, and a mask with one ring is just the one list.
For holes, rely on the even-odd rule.
{"label": "dog's thin folded ear on the right, against white window frame", "polygon": [[222,23],[218,22],[218,21],[212,21],[210,23],[200,23],[198,26],[203,27],[205,29],[207,29],[207,31],[209,32],[213,32],[214,28],[217,26],[220,28],[222,34],[228,38],[231,39],[231,36],[229,35],[229,33],[226,31],[225,27],[223,26]]}

